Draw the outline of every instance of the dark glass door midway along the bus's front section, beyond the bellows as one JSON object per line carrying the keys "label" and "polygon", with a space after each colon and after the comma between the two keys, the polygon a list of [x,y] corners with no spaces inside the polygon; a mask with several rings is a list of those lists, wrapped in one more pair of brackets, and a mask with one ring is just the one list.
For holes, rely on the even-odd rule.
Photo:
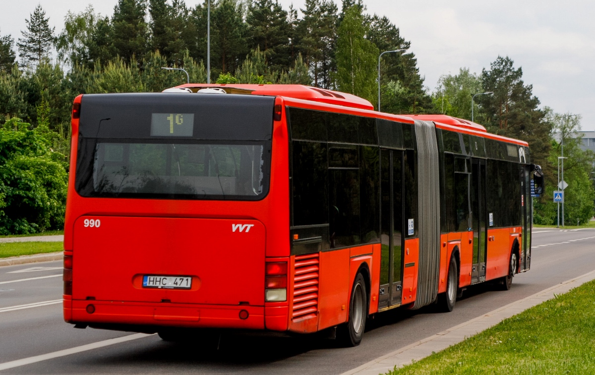
{"label": "dark glass door midway along the bus's front section, beyond the bellows", "polygon": [[486,280],[486,160],[471,159],[471,221],[473,259],[471,283]]}

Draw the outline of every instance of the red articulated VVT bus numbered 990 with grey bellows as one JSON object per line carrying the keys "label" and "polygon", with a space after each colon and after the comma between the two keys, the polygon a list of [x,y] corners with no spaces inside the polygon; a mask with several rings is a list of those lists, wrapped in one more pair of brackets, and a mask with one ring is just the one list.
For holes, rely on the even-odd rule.
{"label": "red articulated VVT bus numbered 990 with grey bellows", "polygon": [[511,287],[530,268],[527,143],[299,85],[74,100],[64,319],[158,332],[336,328]]}

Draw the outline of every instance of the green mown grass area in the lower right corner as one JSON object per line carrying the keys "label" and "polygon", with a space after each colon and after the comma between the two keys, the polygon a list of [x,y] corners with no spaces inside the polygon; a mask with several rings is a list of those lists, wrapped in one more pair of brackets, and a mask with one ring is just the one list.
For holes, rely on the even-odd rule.
{"label": "green mown grass area in the lower right corner", "polygon": [[595,374],[595,281],[386,374]]}

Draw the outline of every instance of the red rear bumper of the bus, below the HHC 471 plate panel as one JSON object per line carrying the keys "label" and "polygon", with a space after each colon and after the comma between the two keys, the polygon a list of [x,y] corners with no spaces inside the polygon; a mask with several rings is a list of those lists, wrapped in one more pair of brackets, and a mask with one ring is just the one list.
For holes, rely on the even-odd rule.
{"label": "red rear bumper of the bus, below the HHC 471 plate panel", "polygon": [[[106,323],[140,326],[265,329],[264,307],[262,306],[87,300],[73,300],[71,306],[70,323],[83,323],[91,326],[95,323]],[[268,327],[268,329],[274,329],[274,327]]]}

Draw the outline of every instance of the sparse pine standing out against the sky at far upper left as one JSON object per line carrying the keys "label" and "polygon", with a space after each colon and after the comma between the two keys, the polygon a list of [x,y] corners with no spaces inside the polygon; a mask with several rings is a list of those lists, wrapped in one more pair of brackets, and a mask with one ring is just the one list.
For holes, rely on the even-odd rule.
{"label": "sparse pine standing out against the sky at far upper left", "polygon": [[25,23],[27,31],[21,31],[23,37],[18,39],[18,52],[25,65],[37,65],[52,49],[55,27],[49,27],[49,17],[45,18],[45,11],[41,5],[35,7],[35,11]]}

